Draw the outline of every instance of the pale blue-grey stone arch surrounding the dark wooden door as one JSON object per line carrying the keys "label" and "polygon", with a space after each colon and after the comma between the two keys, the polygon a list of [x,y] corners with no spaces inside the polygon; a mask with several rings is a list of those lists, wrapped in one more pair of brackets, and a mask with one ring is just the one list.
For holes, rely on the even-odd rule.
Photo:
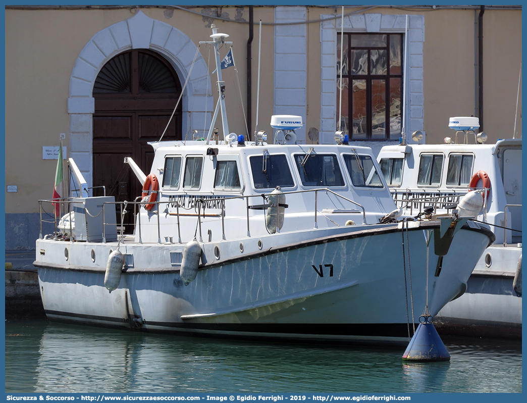
{"label": "pale blue-grey stone arch surrounding the dark wooden door", "polygon": [[[81,170],[88,186],[93,180],[93,119],[95,101],[92,95],[97,74],[113,56],[130,49],[150,49],[167,59],[184,85],[182,102],[183,133],[194,129],[203,132],[203,119],[210,123],[213,98],[207,63],[197,46],[177,28],[138,11],[96,33],[77,57],[70,78],[67,108],[70,116],[70,157]],[[208,91],[207,91],[208,89]],[[174,105],[175,107],[175,105]],[[206,112],[208,111],[208,112]]]}

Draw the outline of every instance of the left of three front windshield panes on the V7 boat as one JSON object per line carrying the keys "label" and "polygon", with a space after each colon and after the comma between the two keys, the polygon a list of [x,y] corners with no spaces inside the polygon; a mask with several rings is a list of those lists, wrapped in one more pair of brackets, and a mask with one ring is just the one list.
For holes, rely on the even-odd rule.
{"label": "left of three front windshield panes on the V7 boat", "polygon": [[285,155],[264,153],[261,156],[250,157],[249,161],[255,189],[295,186]]}

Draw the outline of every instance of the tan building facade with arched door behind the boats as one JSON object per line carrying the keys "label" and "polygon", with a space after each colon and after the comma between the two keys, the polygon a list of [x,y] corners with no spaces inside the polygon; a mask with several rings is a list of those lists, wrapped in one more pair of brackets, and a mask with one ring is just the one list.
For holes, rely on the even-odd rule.
{"label": "tan building facade with arched door behind the boats", "polygon": [[231,131],[272,141],[270,117],[292,114],[300,143],[341,129],[378,152],[403,132],[442,142],[454,116],[521,137],[521,21],[521,6],[6,6],[6,249],[34,248],[60,133],[93,194],[129,200],[123,157],[148,170],[148,141],[206,137],[212,24],[232,42]]}

